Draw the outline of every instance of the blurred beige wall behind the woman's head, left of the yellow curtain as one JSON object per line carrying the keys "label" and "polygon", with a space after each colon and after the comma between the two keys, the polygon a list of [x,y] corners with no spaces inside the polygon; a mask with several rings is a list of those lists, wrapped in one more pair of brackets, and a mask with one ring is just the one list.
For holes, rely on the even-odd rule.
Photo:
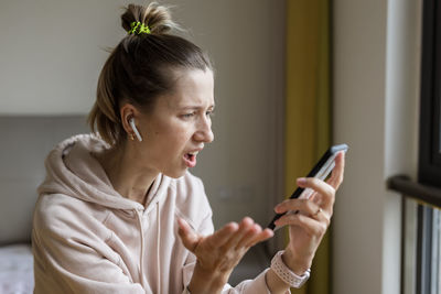
{"label": "blurred beige wall behind the woman's head, left of the yellow curtain", "polygon": [[[147,3],[146,1],[131,1]],[[100,69],[125,36],[129,1],[1,4],[0,113],[87,116]],[[265,225],[277,190],[282,139],[284,3],[170,1],[173,18],[215,64],[215,142],[194,174],[222,225],[250,215]]]}

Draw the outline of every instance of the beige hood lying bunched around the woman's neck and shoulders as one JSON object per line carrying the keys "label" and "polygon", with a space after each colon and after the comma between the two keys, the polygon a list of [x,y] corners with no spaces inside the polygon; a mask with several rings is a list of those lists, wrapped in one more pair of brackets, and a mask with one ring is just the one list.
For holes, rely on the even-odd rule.
{"label": "beige hood lying bunched around the woman's neck and shoulders", "polygon": [[[64,194],[84,202],[114,209],[137,209],[146,207],[116,192],[106,172],[93,153],[103,152],[109,145],[94,134],[74,135],[55,146],[45,160],[46,178],[40,185],[39,195]],[[159,174],[150,188],[147,207],[166,187],[170,179]]]}

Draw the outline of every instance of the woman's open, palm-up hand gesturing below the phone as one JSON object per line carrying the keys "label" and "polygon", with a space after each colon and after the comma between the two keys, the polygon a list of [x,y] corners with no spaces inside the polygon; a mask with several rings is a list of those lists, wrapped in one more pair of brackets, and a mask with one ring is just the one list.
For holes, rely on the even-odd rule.
{"label": "woman's open, palm-up hand gesturing below the phone", "polygon": [[240,224],[229,222],[209,236],[197,235],[183,219],[178,222],[183,244],[197,259],[189,285],[192,294],[219,293],[248,249],[273,236],[272,230],[262,230],[249,217]]}

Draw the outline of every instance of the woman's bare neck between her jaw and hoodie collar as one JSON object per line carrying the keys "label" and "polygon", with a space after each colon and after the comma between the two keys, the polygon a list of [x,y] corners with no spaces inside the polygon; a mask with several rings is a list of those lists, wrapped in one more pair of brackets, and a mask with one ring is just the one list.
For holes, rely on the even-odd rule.
{"label": "woman's bare neck between her jaw and hoodie collar", "polygon": [[146,198],[159,172],[142,166],[130,143],[97,154],[114,188],[123,197],[146,205]]}

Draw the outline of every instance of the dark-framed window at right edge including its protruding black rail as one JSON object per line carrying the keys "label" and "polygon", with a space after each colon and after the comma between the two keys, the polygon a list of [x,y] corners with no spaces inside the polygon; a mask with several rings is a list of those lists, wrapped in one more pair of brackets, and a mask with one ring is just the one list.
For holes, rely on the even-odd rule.
{"label": "dark-framed window at right edge including its protruding black rail", "polygon": [[441,294],[441,2],[422,3],[418,183],[388,184],[411,196],[402,206],[401,293]]}

